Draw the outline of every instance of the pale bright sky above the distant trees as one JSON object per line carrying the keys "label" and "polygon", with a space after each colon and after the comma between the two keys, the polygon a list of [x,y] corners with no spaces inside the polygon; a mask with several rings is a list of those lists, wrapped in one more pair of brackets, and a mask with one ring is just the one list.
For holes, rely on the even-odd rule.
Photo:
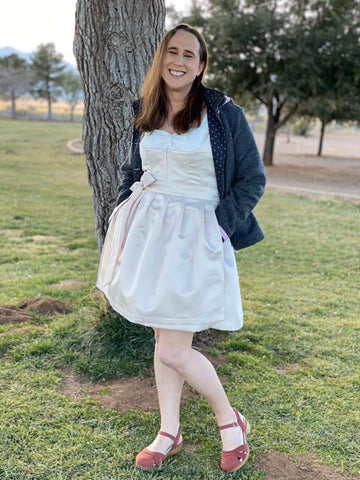
{"label": "pale bright sky above the distant trees", "polygon": [[[166,0],[183,10],[191,0]],[[54,43],[63,60],[76,67],[72,53],[76,0],[4,0],[0,16],[0,48],[34,52],[41,43]]]}

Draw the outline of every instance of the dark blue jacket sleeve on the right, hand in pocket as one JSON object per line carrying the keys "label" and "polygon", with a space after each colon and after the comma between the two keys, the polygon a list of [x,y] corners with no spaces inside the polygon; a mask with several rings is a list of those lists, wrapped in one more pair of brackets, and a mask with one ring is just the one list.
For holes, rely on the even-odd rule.
{"label": "dark blue jacket sleeve on the right, hand in pocket", "polygon": [[[241,107],[231,102],[227,118],[233,143],[234,178],[216,208],[221,227],[231,237],[244,224],[265,191],[264,165]],[[231,151],[231,150],[230,150]]]}

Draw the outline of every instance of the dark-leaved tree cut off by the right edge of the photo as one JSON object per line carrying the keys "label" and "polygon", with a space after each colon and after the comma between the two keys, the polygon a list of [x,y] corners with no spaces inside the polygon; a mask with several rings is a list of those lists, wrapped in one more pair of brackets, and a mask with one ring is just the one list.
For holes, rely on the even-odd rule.
{"label": "dark-leaved tree cut off by the right edge of the photo", "polygon": [[[323,2],[324,3],[324,2]],[[335,3],[335,1],[333,2]],[[317,37],[322,38],[321,51],[316,54],[320,88],[317,94],[303,102],[298,109],[301,116],[318,118],[321,123],[318,156],[322,154],[326,126],[332,122],[356,121],[360,118],[360,3],[343,0],[338,15],[330,4],[315,2]]]}

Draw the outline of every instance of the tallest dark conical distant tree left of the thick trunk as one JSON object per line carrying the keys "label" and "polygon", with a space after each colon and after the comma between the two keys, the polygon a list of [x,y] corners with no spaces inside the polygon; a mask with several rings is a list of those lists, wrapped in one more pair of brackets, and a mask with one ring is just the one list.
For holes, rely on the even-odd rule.
{"label": "tallest dark conical distant tree left of the thick trunk", "polygon": [[30,90],[35,98],[44,98],[48,103],[48,120],[51,120],[52,102],[61,95],[65,64],[61,64],[63,55],[56,53],[53,43],[40,44],[31,57],[30,68],[34,73],[35,82]]}

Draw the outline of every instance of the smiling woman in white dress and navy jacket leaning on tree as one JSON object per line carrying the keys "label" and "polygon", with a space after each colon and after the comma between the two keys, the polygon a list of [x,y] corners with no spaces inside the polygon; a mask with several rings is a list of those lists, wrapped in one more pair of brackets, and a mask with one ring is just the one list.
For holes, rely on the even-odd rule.
{"label": "smiling woman in white dress and navy jacket leaning on tree", "polygon": [[248,459],[250,424],[232,408],[194,332],[243,324],[234,249],[263,239],[252,213],[265,175],[240,107],[205,87],[207,48],[180,24],[163,38],[134,103],[134,129],[101,254],[97,286],[131,322],[155,331],[161,429],[136,457],[145,470],[180,451],[186,380],[209,402],[221,432],[221,468]]}

